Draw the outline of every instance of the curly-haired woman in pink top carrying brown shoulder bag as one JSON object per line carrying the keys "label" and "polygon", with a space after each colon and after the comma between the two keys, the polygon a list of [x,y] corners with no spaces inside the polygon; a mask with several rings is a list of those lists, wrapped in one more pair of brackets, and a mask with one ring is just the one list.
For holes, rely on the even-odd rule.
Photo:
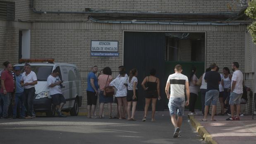
{"label": "curly-haired woman in pink top carrying brown shoulder bag", "polygon": [[104,96],[104,88],[109,86],[111,80],[112,80],[112,71],[110,67],[105,67],[103,68],[103,74],[101,74],[98,77],[98,83],[100,86],[100,98],[99,98],[99,103],[100,103],[100,117],[103,118],[103,106],[105,103],[108,103],[108,114],[109,118],[112,118],[112,103],[113,103],[113,97],[105,97]]}

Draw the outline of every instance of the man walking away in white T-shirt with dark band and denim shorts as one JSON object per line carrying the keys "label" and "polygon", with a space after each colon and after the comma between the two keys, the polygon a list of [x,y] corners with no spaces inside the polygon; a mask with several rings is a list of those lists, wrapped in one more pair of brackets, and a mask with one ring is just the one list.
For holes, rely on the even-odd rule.
{"label": "man walking away in white T-shirt with dark band and denim shorts", "polygon": [[[172,125],[175,127],[173,137],[179,137],[179,130],[182,125],[182,116],[184,114],[184,107],[189,105],[189,80],[187,76],[182,74],[182,66],[176,65],[175,73],[168,77],[165,92],[167,99],[169,99],[169,111]],[[171,92],[169,90],[171,88]],[[187,100],[185,102],[185,90]],[[176,119],[176,115],[178,118]]]}

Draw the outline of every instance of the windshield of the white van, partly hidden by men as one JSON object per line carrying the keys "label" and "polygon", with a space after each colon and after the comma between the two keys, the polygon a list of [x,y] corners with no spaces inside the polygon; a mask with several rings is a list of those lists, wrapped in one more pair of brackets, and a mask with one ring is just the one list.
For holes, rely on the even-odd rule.
{"label": "windshield of the white van, partly hidden by men", "polygon": [[[53,66],[31,66],[31,71],[36,73],[37,81],[47,81],[53,71]],[[24,66],[21,72],[24,72]]]}

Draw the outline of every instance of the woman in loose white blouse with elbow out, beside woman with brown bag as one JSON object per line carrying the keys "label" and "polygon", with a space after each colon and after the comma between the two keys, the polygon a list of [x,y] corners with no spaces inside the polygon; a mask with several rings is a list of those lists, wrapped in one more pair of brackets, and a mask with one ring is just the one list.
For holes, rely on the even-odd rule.
{"label": "woman in loose white blouse with elbow out, beside woman with brown bag", "polygon": [[[126,119],[125,113],[127,111],[127,87],[125,84],[127,84],[127,77],[125,77],[126,73],[125,71],[120,71],[120,75],[111,81],[110,86],[114,86],[117,89],[117,92],[115,93],[115,97],[117,98],[117,104],[118,104],[118,113],[119,113],[119,119]],[[123,111],[122,111],[122,106]],[[123,113],[122,113],[123,112]]]}

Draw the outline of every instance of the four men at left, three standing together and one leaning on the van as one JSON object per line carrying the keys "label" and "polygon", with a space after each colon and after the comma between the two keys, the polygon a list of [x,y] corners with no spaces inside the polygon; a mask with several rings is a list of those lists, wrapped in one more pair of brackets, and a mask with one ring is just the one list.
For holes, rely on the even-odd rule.
{"label": "four men at left, three standing together and one leaning on the van", "polygon": [[[24,65],[23,73],[21,73],[19,66],[13,67],[9,61],[5,61],[3,66],[4,70],[0,71],[0,117],[8,119],[35,118],[33,100],[36,92],[35,85],[37,84],[36,73],[31,71],[31,65],[28,63]],[[59,74],[59,71],[53,70],[48,76],[47,83],[58,116],[66,117],[61,113],[66,100],[60,90],[62,81],[58,78]]]}

